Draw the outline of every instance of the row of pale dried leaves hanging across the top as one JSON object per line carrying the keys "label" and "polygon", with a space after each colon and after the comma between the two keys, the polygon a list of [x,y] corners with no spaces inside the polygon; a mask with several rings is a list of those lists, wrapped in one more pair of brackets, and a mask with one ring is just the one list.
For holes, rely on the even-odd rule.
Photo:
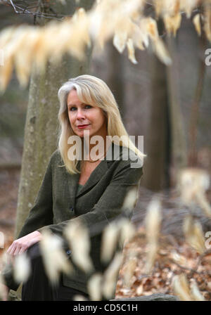
{"label": "row of pale dried leaves hanging across the top", "polygon": [[[78,0],[75,1],[79,2]],[[60,0],[60,2],[65,3],[65,0]],[[177,25],[179,25],[179,12],[185,11],[187,16],[190,17],[198,3],[198,0],[153,1],[157,17],[163,17],[164,15],[177,17],[175,18],[175,22],[172,23],[174,32],[176,32]],[[203,4],[209,3],[203,2]],[[85,12],[83,8],[79,8],[71,19],[66,18],[63,22],[59,22],[58,24],[48,23],[45,27],[39,27],[39,38],[32,39],[31,42],[32,46],[34,46],[34,50],[29,49],[29,51],[27,51],[27,48],[24,48],[26,52],[23,53],[23,60],[26,58],[26,65],[24,65],[23,60],[21,60],[21,54],[18,55],[19,53],[16,50],[18,56],[16,58],[16,69],[20,83],[25,86],[29,74],[32,71],[31,63],[29,62],[30,58],[36,63],[39,72],[44,71],[48,58],[52,58],[51,51],[53,51],[53,58],[56,58],[56,60],[60,60],[63,53],[70,53],[72,56],[82,59],[85,56],[84,50],[87,45],[90,45],[91,39],[94,44],[103,47],[105,42],[112,38],[117,30],[124,30],[125,25],[129,24],[128,21],[133,21],[133,23],[139,25],[141,20],[144,20],[144,23],[148,20],[146,23],[148,31],[145,32],[145,30],[142,32],[142,29],[140,37],[134,35],[136,27],[134,27],[134,30],[130,30],[129,27],[128,37],[130,40],[127,41],[127,49],[129,51],[129,59],[132,60],[132,63],[136,63],[133,46],[144,49],[144,46],[148,46],[148,36],[150,36],[154,41],[153,46],[158,58],[166,65],[169,65],[171,59],[167,53],[167,49],[165,49],[164,43],[159,40],[156,21],[152,18],[143,18],[145,6],[146,1],[144,0],[97,0],[96,4],[87,12]],[[211,40],[210,8],[206,5],[204,8],[205,33],[207,34],[207,38]],[[34,30],[34,27],[27,27],[26,25],[24,25],[24,28],[29,36],[30,32]],[[64,30],[65,28],[66,30]],[[7,49],[7,46],[12,39],[14,39],[13,32],[15,31],[12,27],[11,30],[7,30],[6,32],[7,34],[2,36],[0,34],[1,49]],[[143,36],[141,34],[143,34]],[[91,36],[91,39],[89,36]],[[124,39],[122,41],[122,39],[117,39],[117,37],[114,39],[115,46],[122,51],[122,49],[124,49]],[[25,40],[28,41],[28,39]],[[2,45],[1,42],[3,43]],[[34,44],[35,42],[36,44]],[[18,47],[22,47],[21,44],[23,44],[23,42],[21,42],[20,38],[17,36],[15,36],[15,43]],[[23,44],[23,46],[25,46],[25,44]],[[13,56],[9,55],[8,59],[10,60],[6,60],[6,68],[4,68],[1,73],[1,90],[6,89],[13,72]]]}

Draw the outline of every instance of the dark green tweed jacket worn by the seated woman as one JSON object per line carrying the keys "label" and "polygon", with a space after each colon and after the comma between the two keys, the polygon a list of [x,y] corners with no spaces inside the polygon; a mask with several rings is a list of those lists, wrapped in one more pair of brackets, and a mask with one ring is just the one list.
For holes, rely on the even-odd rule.
{"label": "dark green tweed jacket worn by the seated woman", "polygon": [[[129,159],[126,160],[128,153]],[[108,222],[120,218],[123,214],[132,217],[132,212],[123,213],[122,204],[131,188],[139,188],[142,164],[133,151],[112,143],[106,158],[94,169],[86,184],[77,191],[79,174],[69,174],[64,166],[60,167],[63,160],[56,150],[51,155],[34,206],[18,238],[33,231],[41,232],[46,226],[63,237],[63,230],[68,222],[80,219],[89,229],[90,255],[95,271],[103,272],[106,266],[102,265],[100,259],[101,231]],[[65,240],[64,237],[63,239]],[[64,245],[67,244],[64,241]],[[69,258],[72,260],[71,255]],[[74,265],[73,262],[72,264]],[[8,287],[17,290],[18,284],[13,281],[12,271],[5,269],[3,275]],[[89,276],[75,266],[73,275],[63,274],[63,285],[87,293]]]}

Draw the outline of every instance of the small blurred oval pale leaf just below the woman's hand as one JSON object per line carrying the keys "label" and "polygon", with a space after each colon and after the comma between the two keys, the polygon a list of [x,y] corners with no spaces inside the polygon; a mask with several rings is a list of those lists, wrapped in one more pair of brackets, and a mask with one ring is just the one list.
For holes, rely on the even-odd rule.
{"label": "small blurred oval pale leaf just below the woman's hand", "polygon": [[31,264],[26,252],[15,256],[13,269],[14,278],[17,283],[27,281],[31,272]]}

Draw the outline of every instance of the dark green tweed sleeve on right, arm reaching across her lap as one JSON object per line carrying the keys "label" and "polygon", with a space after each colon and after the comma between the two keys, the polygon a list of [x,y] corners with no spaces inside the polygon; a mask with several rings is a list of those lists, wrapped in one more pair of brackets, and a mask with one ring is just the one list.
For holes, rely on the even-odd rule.
{"label": "dark green tweed sleeve on right, arm reaching across her lap", "polygon": [[[47,226],[53,233],[63,235],[63,230],[71,222],[79,222],[87,226],[89,233],[94,235],[102,231],[103,227],[108,222],[122,215],[122,205],[124,197],[132,188],[139,188],[141,175],[143,174],[142,167],[131,168],[129,161],[121,161],[120,167],[117,167],[112,181],[106,188],[98,203],[93,208],[87,210],[85,214],[74,219],[63,221],[59,224],[51,224]],[[134,202],[136,197],[134,197]],[[39,231],[42,231],[42,229]],[[98,232],[97,232],[98,230]]]}

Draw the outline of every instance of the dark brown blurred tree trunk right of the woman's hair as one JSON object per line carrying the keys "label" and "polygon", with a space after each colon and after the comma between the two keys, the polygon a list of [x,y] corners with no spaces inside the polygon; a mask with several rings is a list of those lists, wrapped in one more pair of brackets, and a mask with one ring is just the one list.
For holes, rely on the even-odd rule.
{"label": "dark brown blurred tree trunk right of the woman's hair", "polygon": [[147,155],[143,170],[142,186],[159,191],[168,186],[168,112],[167,80],[165,65],[157,57],[150,57],[151,63],[151,109],[144,152]]}

